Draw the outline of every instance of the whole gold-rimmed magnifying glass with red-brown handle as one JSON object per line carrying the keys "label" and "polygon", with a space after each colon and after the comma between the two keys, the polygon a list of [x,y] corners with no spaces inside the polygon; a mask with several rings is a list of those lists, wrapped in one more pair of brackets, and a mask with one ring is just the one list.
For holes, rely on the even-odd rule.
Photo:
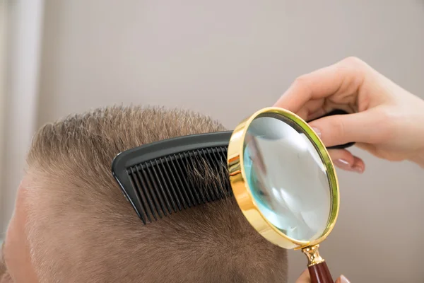
{"label": "whole gold-rimmed magnifying glass with red-brown handle", "polygon": [[336,224],[338,181],[329,153],[307,122],[264,108],[242,121],[228,146],[237,204],[261,236],[302,250],[312,283],[333,283],[319,243]]}

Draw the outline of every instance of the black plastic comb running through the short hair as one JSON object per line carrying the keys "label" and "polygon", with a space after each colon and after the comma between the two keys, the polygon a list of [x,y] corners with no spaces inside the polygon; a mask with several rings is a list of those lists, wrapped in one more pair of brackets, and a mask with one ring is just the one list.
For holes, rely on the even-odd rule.
{"label": "black plastic comb running through the short hair", "polygon": [[[335,110],[326,116],[341,114],[346,112]],[[214,132],[165,139],[123,151],[114,158],[112,174],[143,224],[232,195],[229,178],[218,180],[221,190],[216,184],[196,184],[189,178],[193,171],[202,174],[206,168],[216,173],[225,168],[226,172],[231,134]]]}

